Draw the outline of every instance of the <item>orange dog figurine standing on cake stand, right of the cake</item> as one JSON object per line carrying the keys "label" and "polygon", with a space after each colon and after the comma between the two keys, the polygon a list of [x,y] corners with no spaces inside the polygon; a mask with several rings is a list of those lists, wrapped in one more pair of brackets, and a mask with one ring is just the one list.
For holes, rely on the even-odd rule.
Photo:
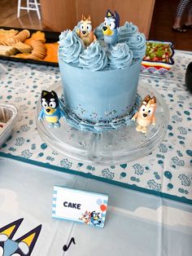
{"label": "orange dog figurine standing on cake stand, right of the cake", "polygon": [[155,126],[155,109],[156,109],[156,98],[150,95],[146,95],[145,99],[142,100],[142,106],[138,112],[134,114],[132,120],[137,120],[137,131],[146,133],[147,127],[151,124]]}

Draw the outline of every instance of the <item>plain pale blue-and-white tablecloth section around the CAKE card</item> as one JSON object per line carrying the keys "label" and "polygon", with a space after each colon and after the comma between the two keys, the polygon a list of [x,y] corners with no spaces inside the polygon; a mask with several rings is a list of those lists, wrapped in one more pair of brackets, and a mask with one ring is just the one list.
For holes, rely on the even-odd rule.
{"label": "plain pale blue-and-white tablecloth section around the CAKE card", "polygon": [[[54,185],[109,195],[104,228],[51,218]],[[32,255],[190,256],[192,206],[0,157],[0,227],[24,218],[15,239],[42,224]],[[63,245],[71,237],[66,253]]]}

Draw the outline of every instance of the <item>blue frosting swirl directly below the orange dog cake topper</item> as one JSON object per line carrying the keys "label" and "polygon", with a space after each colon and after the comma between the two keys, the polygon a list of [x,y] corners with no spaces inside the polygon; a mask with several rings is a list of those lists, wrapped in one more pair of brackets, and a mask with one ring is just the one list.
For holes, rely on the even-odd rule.
{"label": "blue frosting swirl directly below the orange dog cake topper", "polygon": [[106,52],[97,41],[92,42],[79,58],[79,67],[89,69],[90,71],[102,70],[106,65]]}

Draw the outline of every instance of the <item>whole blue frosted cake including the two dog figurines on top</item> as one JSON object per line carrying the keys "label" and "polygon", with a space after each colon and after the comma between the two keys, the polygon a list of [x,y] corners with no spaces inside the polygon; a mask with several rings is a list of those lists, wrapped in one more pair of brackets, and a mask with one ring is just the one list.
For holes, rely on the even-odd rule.
{"label": "whole blue frosted cake including the two dog figurines on top", "polygon": [[67,121],[82,130],[101,132],[127,126],[137,110],[137,84],[146,38],[137,26],[119,26],[107,11],[95,30],[90,16],[59,37],[61,105]]}

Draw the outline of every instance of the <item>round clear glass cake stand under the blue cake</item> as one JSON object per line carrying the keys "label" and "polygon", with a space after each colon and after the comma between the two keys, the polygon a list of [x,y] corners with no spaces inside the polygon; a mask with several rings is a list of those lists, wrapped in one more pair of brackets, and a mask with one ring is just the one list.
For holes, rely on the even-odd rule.
{"label": "round clear glass cake stand under the blue cake", "polygon": [[[62,95],[61,83],[55,83],[49,90]],[[37,120],[37,130],[51,148],[77,161],[89,162],[94,165],[115,165],[133,161],[150,154],[164,139],[168,127],[168,107],[159,93],[146,83],[139,82],[138,94],[144,98],[154,94],[157,98],[155,112],[156,124],[150,126],[144,135],[135,130],[136,123],[121,128],[96,134],[90,131],[76,130],[66,121],[60,119],[61,128],[53,129],[46,121]],[[41,111],[41,101],[37,102],[37,117]]]}

